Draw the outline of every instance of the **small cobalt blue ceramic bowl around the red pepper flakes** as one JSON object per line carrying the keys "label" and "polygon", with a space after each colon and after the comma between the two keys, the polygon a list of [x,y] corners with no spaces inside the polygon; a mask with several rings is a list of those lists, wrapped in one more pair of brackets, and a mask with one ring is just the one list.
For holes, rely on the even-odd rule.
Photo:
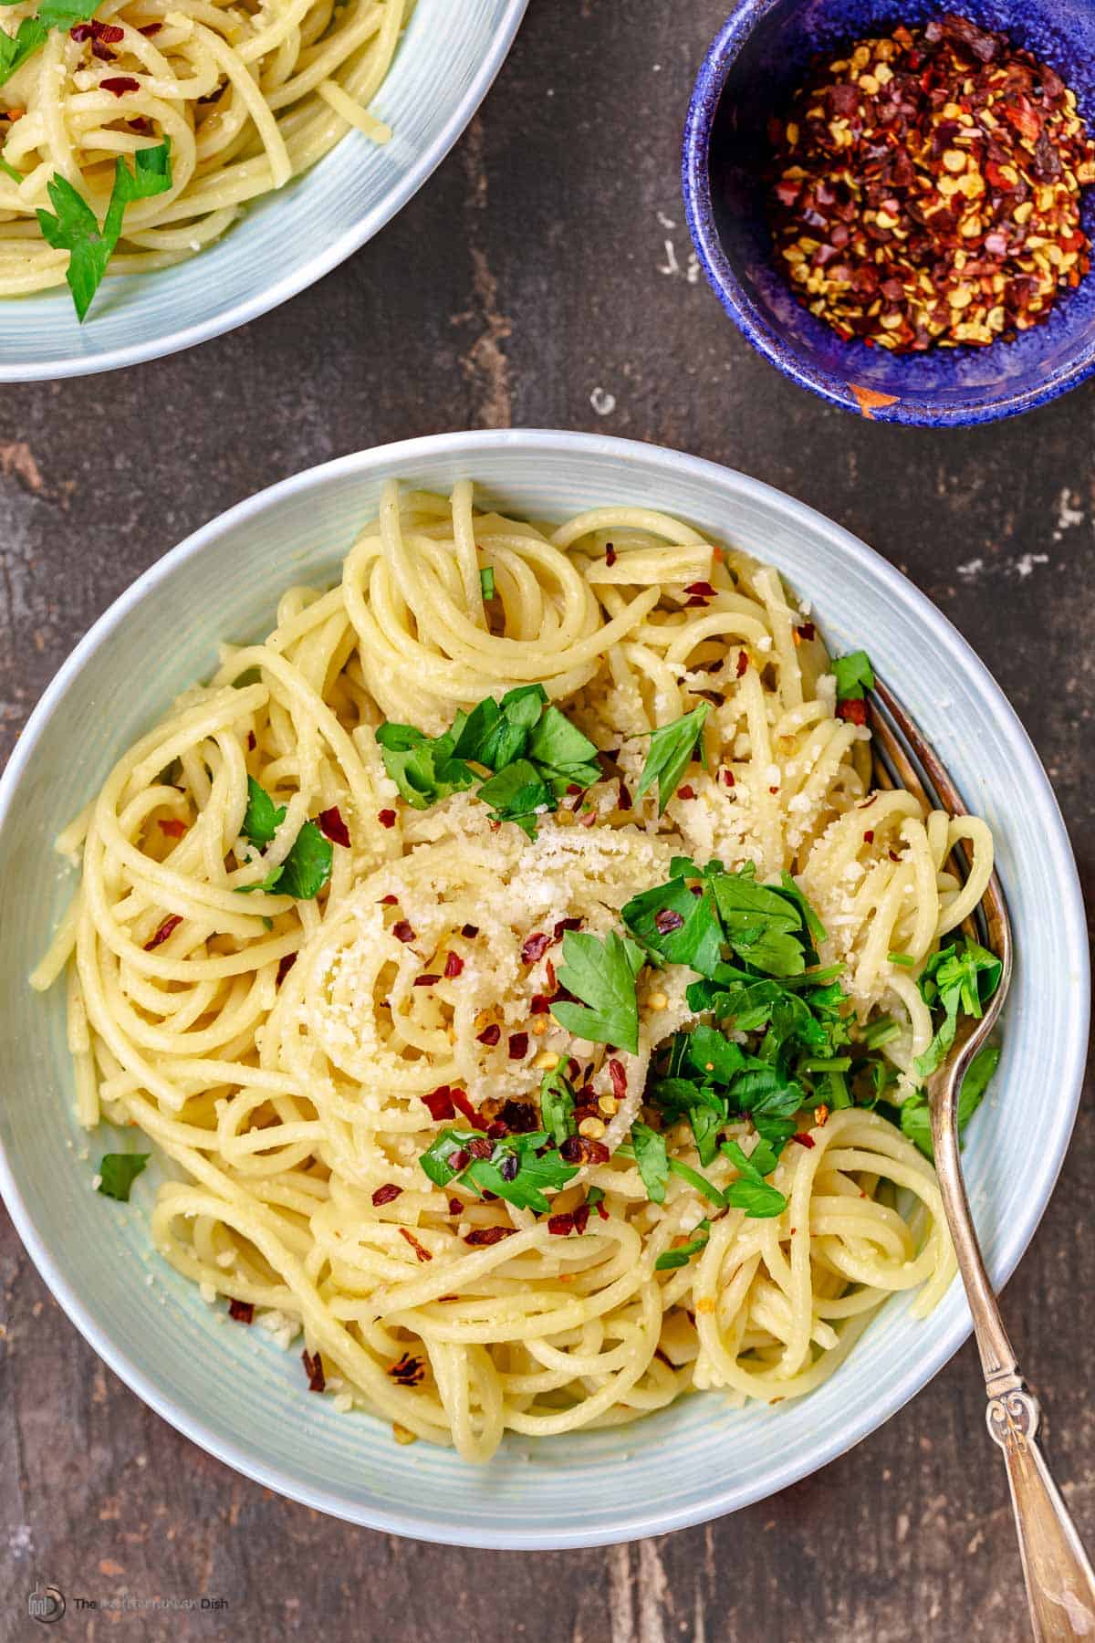
{"label": "small cobalt blue ceramic bowl around the red pepper flakes", "polygon": [[[780,112],[816,53],[836,54],[898,21],[954,10],[1003,30],[1052,64],[1095,130],[1095,5],[1092,0],[740,0],[696,79],[685,125],[688,227],[708,279],[731,315],[773,365],[832,404],[880,422],[932,427],[992,422],[1044,404],[1095,371],[1095,273],[1056,304],[1046,325],[990,348],[888,355],[845,343],[799,307],[772,260],[763,171],[767,122]],[[1084,228],[1095,230],[1095,189]]]}

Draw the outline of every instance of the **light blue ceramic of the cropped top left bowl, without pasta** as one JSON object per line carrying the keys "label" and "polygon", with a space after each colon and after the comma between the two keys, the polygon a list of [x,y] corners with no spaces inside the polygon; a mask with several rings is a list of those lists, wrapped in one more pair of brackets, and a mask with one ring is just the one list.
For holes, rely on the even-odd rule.
{"label": "light blue ceramic of the cropped top left bowl, without pasta", "polygon": [[384,148],[360,131],[248,205],[217,245],[176,268],[110,278],[77,324],[67,286],[0,301],[0,383],[82,376],[158,360],[245,325],[371,240],[442,163],[502,66],[529,0],[415,0],[369,104]]}

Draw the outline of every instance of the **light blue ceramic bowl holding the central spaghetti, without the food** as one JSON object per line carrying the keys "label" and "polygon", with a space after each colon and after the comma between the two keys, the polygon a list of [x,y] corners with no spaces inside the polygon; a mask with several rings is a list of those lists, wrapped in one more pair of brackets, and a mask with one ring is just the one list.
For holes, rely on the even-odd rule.
{"label": "light blue ceramic bowl holding the central spaghetti, without the food", "polygon": [[[1049,782],[983,665],[939,611],[839,526],[740,473],[584,434],[447,434],[345,457],[233,508],[167,554],[95,624],[28,725],[0,784],[0,1186],[43,1277],[77,1328],[154,1410],[241,1472],[356,1523],[470,1546],[548,1548],[657,1535],[795,1482],[893,1415],[969,1329],[955,1286],[924,1323],[887,1305],[849,1362],[809,1398],[731,1410],[714,1393],[639,1426],[534,1443],[483,1469],[424,1443],[399,1447],[363,1415],[309,1397],[297,1354],[258,1329],[213,1324],[197,1291],[149,1254],[154,1171],[128,1211],[90,1190],[80,1157],[59,991],[31,994],[72,887],[49,835],[118,754],[205,677],[218,637],[268,631],[281,590],[338,575],[391,476],[535,518],[601,503],[670,509],[773,560],[827,641],[867,644],[996,835],[1018,969],[995,1094],[965,1162],[993,1278],[1028,1245],[1080,1091],[1087,945],[1075,866]],[[1047,917],[1052,909],[1052,917]],[[1033,1145],[1033,1139],[1036,1145]],[[151,1278],[151,1283],[148,1282]],[[223,1308],[220,1308],[223,1311]]]}

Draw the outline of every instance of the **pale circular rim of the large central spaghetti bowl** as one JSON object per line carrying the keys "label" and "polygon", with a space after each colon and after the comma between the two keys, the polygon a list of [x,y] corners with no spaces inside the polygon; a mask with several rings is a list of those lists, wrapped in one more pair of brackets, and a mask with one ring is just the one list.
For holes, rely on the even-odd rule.
{"label": "pale circular rim of the large central spaghetti bowl", "polygon": [[[529,452],[535,453],[535,450],[542,450],[545,453],[573,453],[580,449],[591,455],[612,457],[621,465],[637,462],[648,468],[662,468],[667,478],[667,486],[671,486],[675,475],[690,475],[694,480],[719,483],[726,483],[729,476],[735,486],[740,488],[744,496],[760,503],[777,503],[788,518],[801,519],[803,524],[813,531],[818,531],[819,526],[824,527],[824,532],[832,541],[837,541],[845,550],[850,550],[854,557],[867,560],[872,565],[872,570],[885,587],[888,596],[895,603],[905,606],[909,618],[926,631],[937,649],[947,651],[952,657],[960,660],[967,675],[977,682],[980,693],[993,702],[998,716],[1008,723],[1015,748],[1013,777],[1016,790],[1024,790],[1024,784],[1033,784],[1041,789],[1044,798],[1047,800],[1047,817],[1052,818],[1052,825],[1044,838],[1044,849],[1051,858],[1051,864],[1061,886],[1061,907],[1057,909],[1062,938],[1061,946],[1069,964],[1075,966],[1084,1007],[1074,1022],[1070,1042],[1067,1045],[1065,1078],[1062,1079],[1062,1094],[1067,1099],[1061,1099],[1052,1114],[1049,1114],[1049,1124],[1041,1132],[1041,1153],[1031,1160],[1031,1193],[1028,1196],[1028,1211],[1021,1219],[1015,1219],[1003,1229],[998,1255],[990,1263],[993,1288],[996,1291],[1001,1290],[1026,1252],[1034,1232],[1038,1231],[1046,1206],[1049,1204],[1049,1198],[1057,1181],[1057,1175],[1061,1173],[1069,1139],[1072,1135],[1084,1084],[1090,1015],[1090,961],[1084,897],[1069,835],[1049,784],[1049,777],[1042,769],[1038,752],[1034,751],[1021,720],[985,664],[967,644],[957,628],[947,621],[942,611],[939,611],[931,600],[921,593],[913,582],[909,582],[908,577],[890,565],[882,554],[875,552],[875,549],[868,547],[826,514],[821,514],[806,503],[788,496],[785,491],[777,490],[777,486],[767,485],[763,480],[754,480],[735,468],[727,468],[717,462],[708,462],[703,457],[690,457],[663,445],[647,445],[640,440],[614,439],[601,434],[522,427],[428,434],[389,445],[374,445],[369,450],[337,457],[332,462],[291,475],[289,478],[258,491],[254,496],[236,503],[227,513],[222,513],[215,519],[200,526],[174,549],[164,554],[163,559],[156,560],[156,564],[138,577],[138,580],[133,582],[95,621],[46,687],[46,692],[33,710],[15,746],[3,775],[0,775],[0,830],[7,823],[23,769],[30,762],[34,746],[48,721],[53,718],[54,710],[64,700],[69,687],[77,680],[84,662],[118,626],[121,626],[121,623],[125,623],[126,616],[138,603],[154,593],[158,585],[171,572],[174,572],[177,565],[202,554],[207,547],[217,542],[223,532],[233,529],[236,524],[261,514],[269,508],[277,508],[289,496],[299,496],[314,488],[322,488],[332,478],[341,478],[345,475],[368,476],[376,468],[391,470],[394,467],[402,468],[410,478],[417,462],[428,462],[450,452],[460,452],[461,457],[468,460],[470,473],[474,476],[473,465],[478,452],[497,452],[506,449],[520,449],[522,455],[529,455]],[[939,1336],[931,1352],[924,1357],[911,1360],[896,1380],[888,1383],[882,1395],[875,1393],[870,1400],[860,1405],[855,1415],[849,1420],[849,1424],[839,1434],[834,1434],[822,1446],[811,1449],[806,1454],[799,1454],[795,1461],[786,1462],[775,1474],[775,1477],[765,1477],[762,1482],[745,1479],[721,1489],[712,1489],[703,1503],[693,1503],[673,1510],[648,1512],[642,1507],[642,1503],[632,1503],[622,1510],[612,1508],[611,1515],[606,1512],[606,1521],[594,1523],[580,1533],[568,1530],[529,1531],[511,1530],[506,1526],[488,1533],[486,1530],[466,1526],[456,1515],[453,1516],[451,1526],[442,1530],[438,1525],[415,1516],[410,1510],[361,1503],[358,1500],[350,1502],[337,1490],[304,1485],[281,1466],[271,1466],[264,1461],[261,1452],[258,1452],[253,1446],[222,1439],[218,1434],[213,1434],[202,1420],[190,1418],[184,1411],[179,1411],[172,1400],[159,1390],[156,1382],[146,1375],[143,1369],[133,1364],[123,1351],[115,1347],[100,1328],[90,1308],[84,1303],[84,1298],[57,1273],[46,1245],[46,1239],[31,1221],[30,1211],[23,1201],[2,1139],[0,1198],[3,1198],[15,1229],[20,1234],[31,1260],[38,1267],[43,1282],[67,1313],[69,1319],[76,1324],[95,1352],[120,1377],[120,1380],[123,1380],[131,1392],[135,1392],[171,1426],[181,1431],[192,1443],[199,1444],[208,1454],[213,1454],[218,1461],[223,1461],[225,1466],[230,1466],[235,1470],[243,1472],[245,1477],[250,1477],[291,1500],[312,1507],[317,1512],[325,1512],[343,1521],[358,1523],[364,1528],[379,1530],[387,1535],[402,1535],[412,1539],[427,1539],[447,1546],[473,1546],[491,1551],[553,1551],[580,1546],[606,1546],[619,1544],[622,1541],[644,1539],[652,1535],[665,1535],[671,1530],[688,1528],[694,1523],[706,1523],[712,1518],[724,1516],[729,1512],[737,1512],[742,1507],[768,1498],[781,1489],[809,1477],[822,1466],[837,1459],[837,1456],[852,1449],[857,1443],[882,1426],[883,1421],[890,1420],[891,1415],[896,1415],[896,1411],[903,1408],[911,1397],[926,1387],[942,1365],[957,1352],[972,1331],[969,1309],[962,1306],[959,1316]]]}

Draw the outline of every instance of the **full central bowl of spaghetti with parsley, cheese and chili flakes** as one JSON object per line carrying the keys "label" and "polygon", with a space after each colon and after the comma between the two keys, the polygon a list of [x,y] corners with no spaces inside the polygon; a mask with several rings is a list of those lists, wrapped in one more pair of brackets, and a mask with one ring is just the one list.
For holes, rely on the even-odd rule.
{"label": "full central bowl of spaghetti with parsley, cheese and chili flakes", "polygon": [[[872,667],[970,817],[875,789]],[[965,1170],[1003,1282],[1075,1116],[1087,946],[959,634],[675,452],[328,463],[153,567],[20,741],[5,1201],[107,1362],[294,1498],[478,1546],[701,1521],[969,1329],[921,1081],[995,984],[993,863],[1019,963]]]}

